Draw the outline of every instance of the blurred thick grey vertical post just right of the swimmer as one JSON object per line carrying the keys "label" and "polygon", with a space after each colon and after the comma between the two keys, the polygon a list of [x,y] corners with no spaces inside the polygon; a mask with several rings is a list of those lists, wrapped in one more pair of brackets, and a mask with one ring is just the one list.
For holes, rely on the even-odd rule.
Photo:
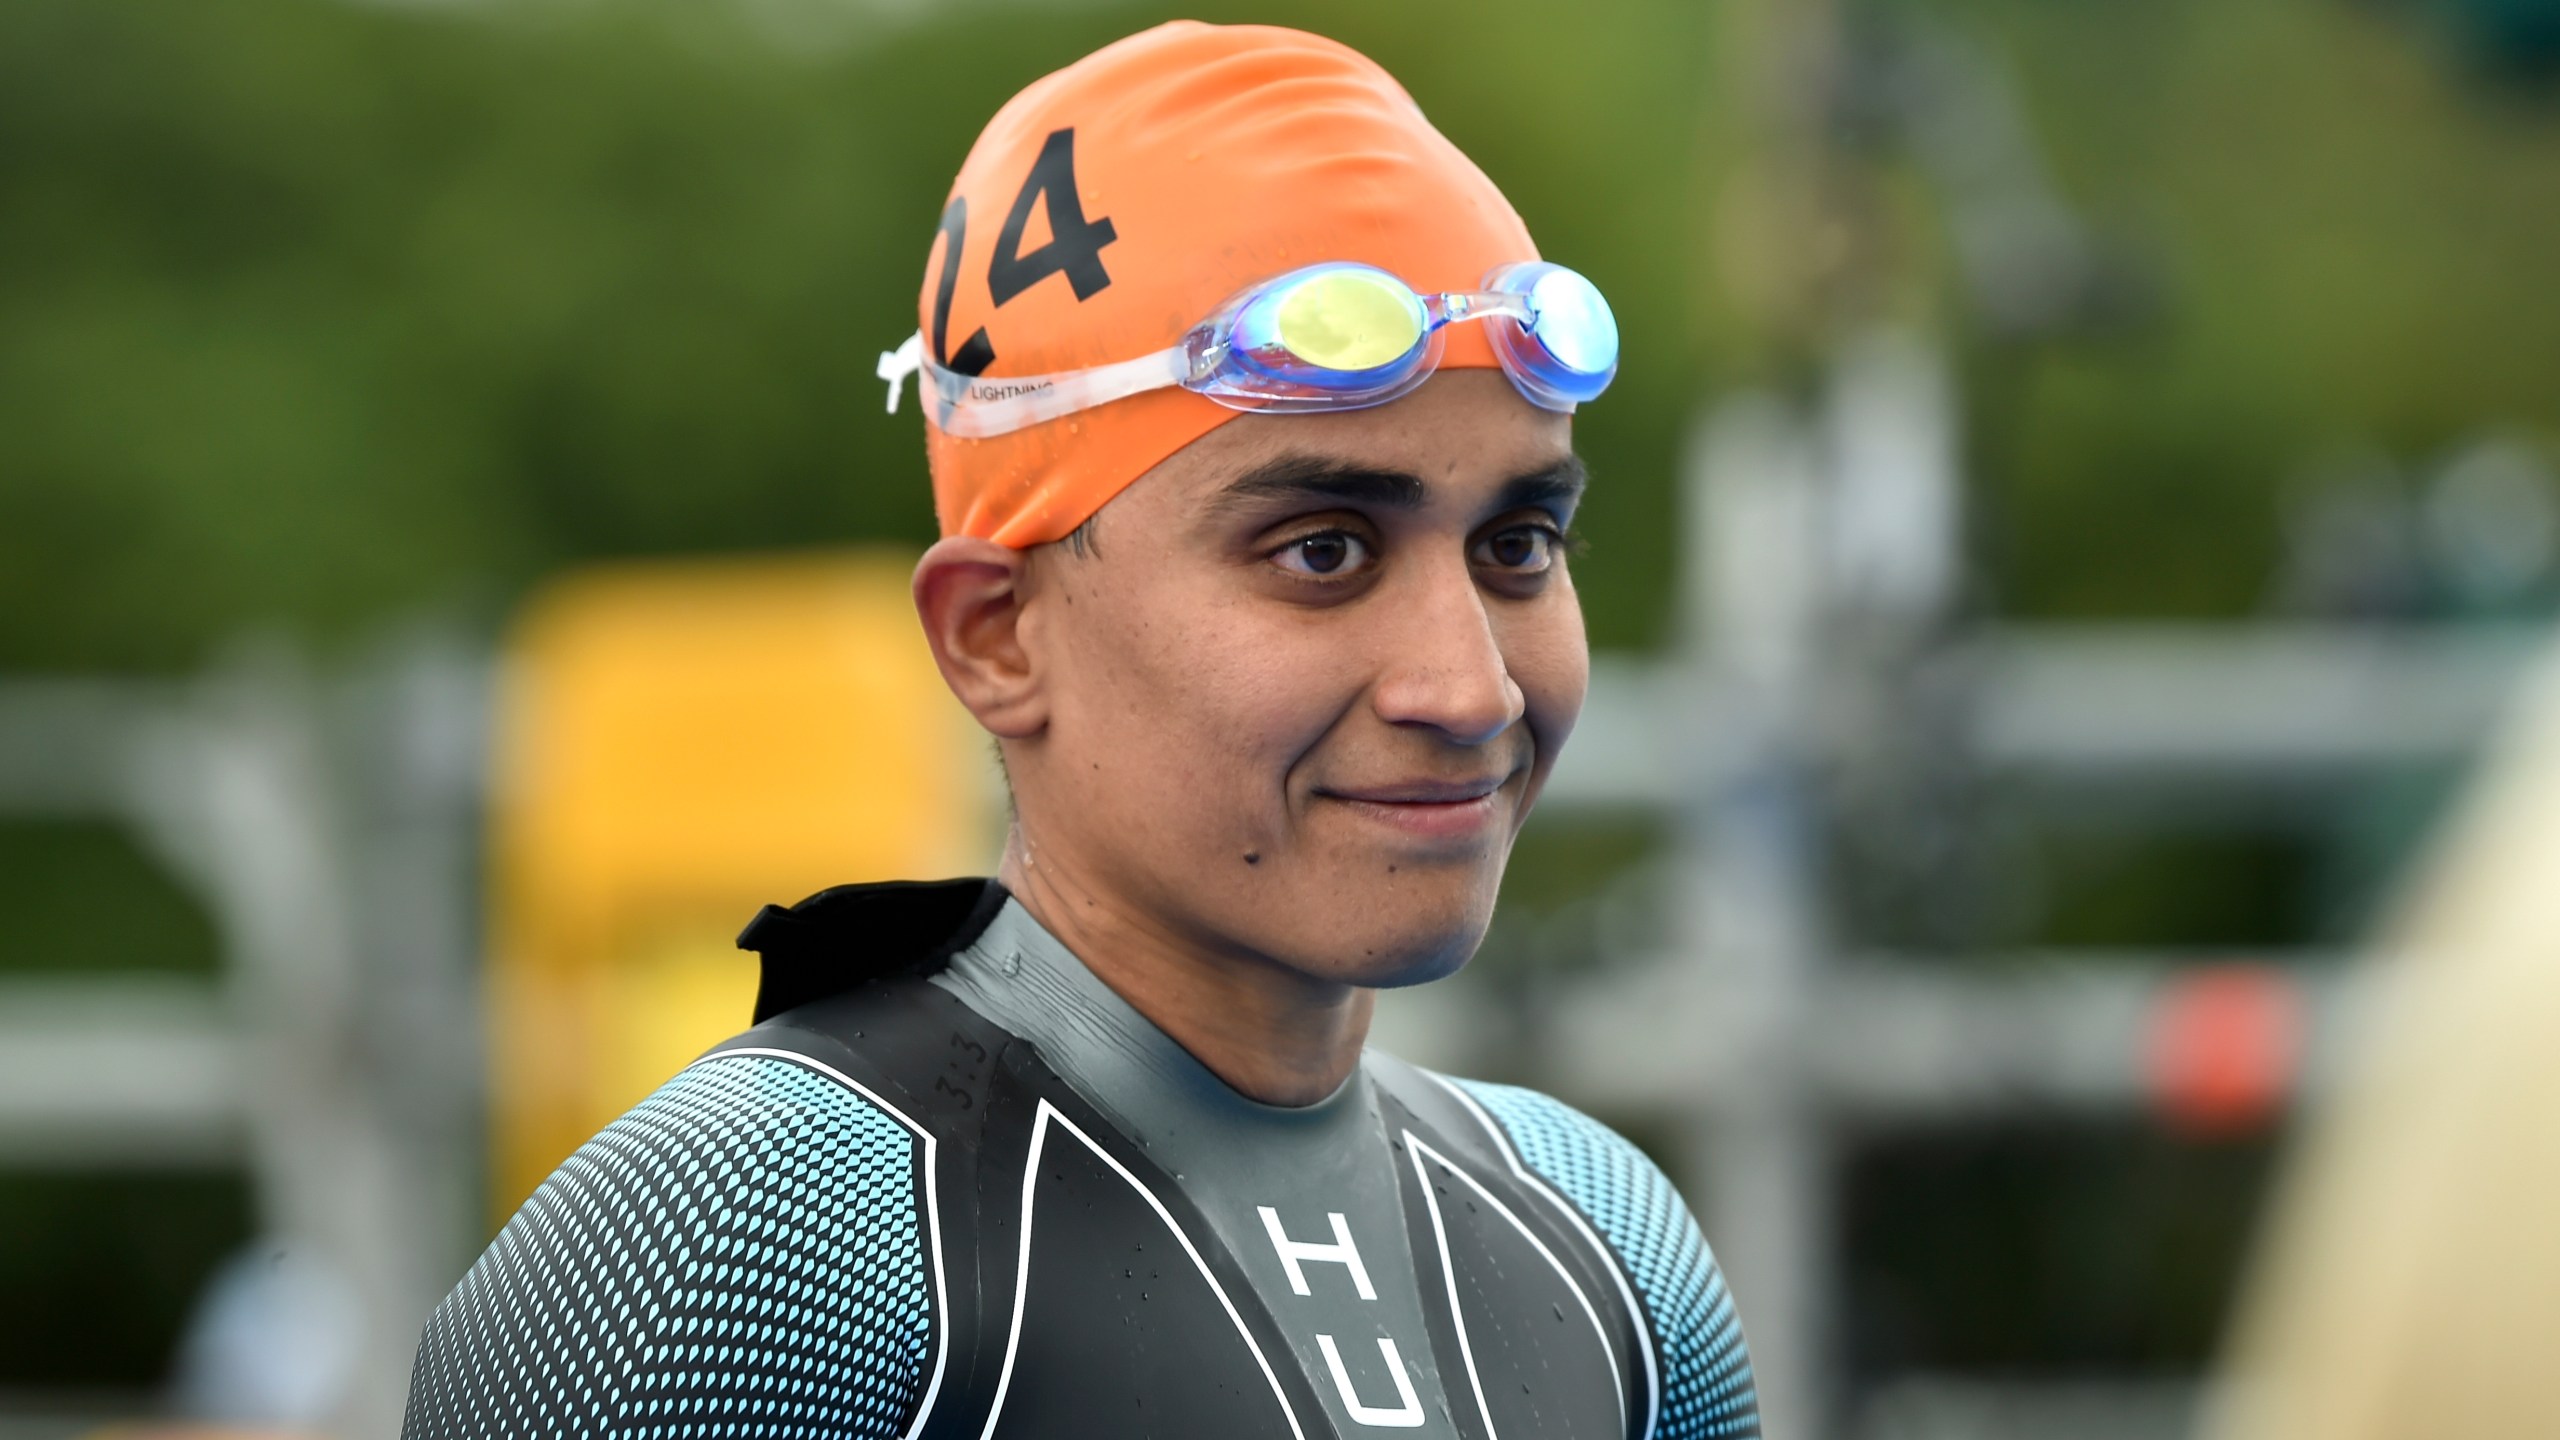
{"label": "blurred thick grey vertical post just right of the swimmer", "polygon": [[1772,1435],[1818,1437],[1830,1371],[1830,1145],[1792,1045],[1823,935],[1800,764],[1823,612],[1820,474],[1774,397],[1718,410],[1692,443],[1687,664],[1725,700],[1723,764],[1687,776],[1674,945],[1741,1084],[1687,1109],[1700,1197],[1751,1338]]}

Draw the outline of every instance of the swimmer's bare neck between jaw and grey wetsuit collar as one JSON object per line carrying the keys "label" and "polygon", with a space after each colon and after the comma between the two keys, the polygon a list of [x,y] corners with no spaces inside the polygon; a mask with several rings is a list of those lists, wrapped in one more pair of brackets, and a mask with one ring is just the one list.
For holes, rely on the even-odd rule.
{"label": "swimmer's bare neck between jaw and grey wetsuit collar", "polygon": [[1377,992],[1188,940],[1034,853],[1019,828],[998,879],[1114,994],[1247,1099],[1316,1104],[1359,1063]]}

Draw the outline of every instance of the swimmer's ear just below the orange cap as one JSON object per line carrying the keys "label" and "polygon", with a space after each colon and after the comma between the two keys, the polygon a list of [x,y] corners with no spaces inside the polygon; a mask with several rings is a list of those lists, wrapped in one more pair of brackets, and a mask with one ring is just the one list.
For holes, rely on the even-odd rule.
{"label": "swimmer's ear just below the orange cap", "polygon": [[947,536],[916,561],[916,620],[942,682],[998,740],[1050,723],[1050,702],[1021,643],[1024,556],[973,536]]}

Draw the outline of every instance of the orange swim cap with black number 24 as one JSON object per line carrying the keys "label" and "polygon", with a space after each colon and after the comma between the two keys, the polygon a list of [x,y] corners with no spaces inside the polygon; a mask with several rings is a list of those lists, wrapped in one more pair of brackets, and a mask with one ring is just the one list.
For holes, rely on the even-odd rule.
{"label": "orange swim cap with black number 24", "polygon": [[[1539,259],[1528,228],[1395,77],[1324,36],[1175,20],[1034,82],[952,182],[916,300],[960,372],[1088,369],[1160,351],[1226,297],[1316,261],[1475,290]],[[1441,366],[1495,366],[1452,325]],[[1239,413],[1155,389],[1009,436],[924,448],[945,536],[1027,548]]]}

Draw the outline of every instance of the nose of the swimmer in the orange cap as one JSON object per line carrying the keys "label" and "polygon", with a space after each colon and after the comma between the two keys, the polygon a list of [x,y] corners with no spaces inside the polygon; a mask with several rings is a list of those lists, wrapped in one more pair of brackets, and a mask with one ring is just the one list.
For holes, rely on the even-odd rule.
{"label": "nose of the swimmer in the orange cap", "polygon": [[1388,653],[1372,705],[1390,725],[1439,730],[1482,746],[1528,712],[1510,679],[1485,594],[1464,564],[1446,566],[1388,605]]}

